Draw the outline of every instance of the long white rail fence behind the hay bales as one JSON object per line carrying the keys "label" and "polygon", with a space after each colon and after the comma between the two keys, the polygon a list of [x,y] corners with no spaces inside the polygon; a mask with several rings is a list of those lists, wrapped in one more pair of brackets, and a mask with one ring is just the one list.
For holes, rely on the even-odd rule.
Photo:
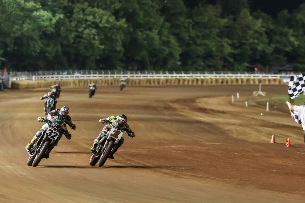
{"label": "long white rail fence behind the hay bales", "polygon": [[122,74],[122,75],[33,75],[9,78],[11,82],[16,80],[69,80],[69,79],[110,79],[110,78],[131,78],[131,79],[158,79],[158,78],[257,78],[275,79],[288,78],[294,75],[266,75],[266,74]]}

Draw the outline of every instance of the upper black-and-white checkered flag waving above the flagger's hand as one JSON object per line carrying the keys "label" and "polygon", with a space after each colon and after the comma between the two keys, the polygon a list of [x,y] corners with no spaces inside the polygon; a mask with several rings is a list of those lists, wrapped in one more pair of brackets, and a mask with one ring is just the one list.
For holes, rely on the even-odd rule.
{"label": "upper black-and-white checkered flag waving above the flagger's hand", "polygon": [[300,74],[290,77],[288,84],[288,94],[291,99],[296,98],[299,94],[305,90],[305,74]]}

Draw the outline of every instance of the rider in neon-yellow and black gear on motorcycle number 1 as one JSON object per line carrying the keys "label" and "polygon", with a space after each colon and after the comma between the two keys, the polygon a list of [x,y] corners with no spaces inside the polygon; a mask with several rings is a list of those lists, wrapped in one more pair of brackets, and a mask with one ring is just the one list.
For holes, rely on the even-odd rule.
{"label": "rider in neon-yellow and black gear on motorcycle number 1", "polygon": [[[107,132],[111,130],[112,127],[116,127],[118,130],[124,131],[130,137],[135,137],[135,133],[131,131],[129,125],[127,124],[127,117],[124,114],[120,114],[117,117],[109,116],[108,118],[102,118],[99,120],[100,123],[108,123],[104,126],[99,136],[94,140],[93,145],[91,146],[91,151],[95,152],[95,147],[102,139],[102,137],[106,136]],[[117,149],[123,144],[124,138],[122,137],[119,143],[114,147],[113,153],[109,154],[110,159],[114,159],[113,154],[117,151]]]}

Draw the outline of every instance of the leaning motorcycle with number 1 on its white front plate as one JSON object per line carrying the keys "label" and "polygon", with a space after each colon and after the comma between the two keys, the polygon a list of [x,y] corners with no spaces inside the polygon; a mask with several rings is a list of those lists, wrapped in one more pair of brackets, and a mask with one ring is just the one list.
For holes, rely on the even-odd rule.
{"label": "leaning motorcycle with number 1 on its white front plate", "polygon": [[102,167],[106,162],[110,152],[113,152],[114,147],[119,143],[122,138],[123,131],[118,130],[116,127],[112,127],[100,141],[96,147],[96,152],[92,153],[90,158],[90,165],[95,166],[97,163],[99,167]]}

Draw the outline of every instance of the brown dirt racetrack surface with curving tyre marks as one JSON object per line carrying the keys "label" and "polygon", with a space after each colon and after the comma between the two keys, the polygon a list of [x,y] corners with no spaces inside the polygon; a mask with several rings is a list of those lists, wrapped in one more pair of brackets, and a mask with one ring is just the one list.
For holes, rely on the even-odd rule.
{"label": "brown dirt racetrack surface with curving tyre marks", "polygon": [[[25,145],[48,89],[0,93],[0,202],[304,202],[301,125],[284,104],[265,106],[286,85],[262,86],[266,97],[252,96],[257,85],[100,87],[91,99],[62,89],[57,107],[70,108],[76,130],[36,168]],[[135,138],[124,134],[115,159],[90,166],[99,119],[118,114]]]}

